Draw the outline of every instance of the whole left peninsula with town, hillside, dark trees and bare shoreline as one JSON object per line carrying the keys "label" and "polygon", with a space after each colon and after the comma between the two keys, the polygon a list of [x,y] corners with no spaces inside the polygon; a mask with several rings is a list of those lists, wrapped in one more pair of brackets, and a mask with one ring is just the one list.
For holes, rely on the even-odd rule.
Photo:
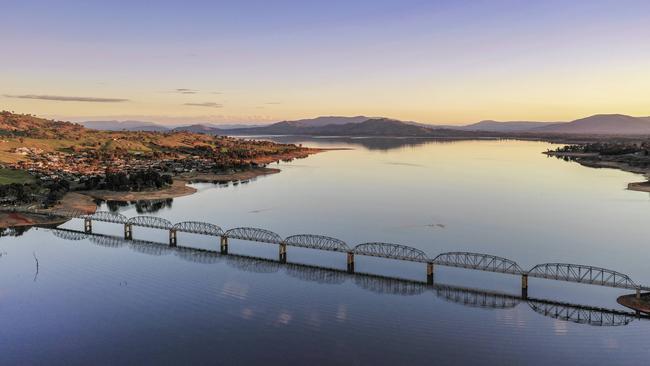
{"label": "whole left peninsula with town, hillside, dark trees and bare shoreline", "polygon": [[0,228],[57,224],[65,220],[56,212],[92,213],[96,199],[169,199],[194,193],[191,182],[248,181],[278,173],[270,163],[320,151],[186,131],[97,131],[3,111]]}

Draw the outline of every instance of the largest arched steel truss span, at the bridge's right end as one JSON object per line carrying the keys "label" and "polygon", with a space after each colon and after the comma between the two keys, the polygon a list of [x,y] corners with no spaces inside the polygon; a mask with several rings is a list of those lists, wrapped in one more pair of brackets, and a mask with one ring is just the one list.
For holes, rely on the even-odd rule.
{"label": "largest arched steel truss span, at the bridge's right end", "polygon": [[558,281],[587,283],[607,287],[639,290],[632,279],[623,273],[610,269],[570,263],[538,264],[528,272],[529,277],[545,278]]}

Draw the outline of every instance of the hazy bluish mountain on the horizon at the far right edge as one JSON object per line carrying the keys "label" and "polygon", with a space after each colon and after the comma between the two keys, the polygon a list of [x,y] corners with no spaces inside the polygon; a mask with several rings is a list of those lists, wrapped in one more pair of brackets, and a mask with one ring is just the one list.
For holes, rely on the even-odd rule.
{"label": "hazy bluish mountain on the horizon at the far right edge", "polygon": [[530,132],[582,135],[650,135],[650,120],[623,114],[597,114],[572,122],[536,128]]}

